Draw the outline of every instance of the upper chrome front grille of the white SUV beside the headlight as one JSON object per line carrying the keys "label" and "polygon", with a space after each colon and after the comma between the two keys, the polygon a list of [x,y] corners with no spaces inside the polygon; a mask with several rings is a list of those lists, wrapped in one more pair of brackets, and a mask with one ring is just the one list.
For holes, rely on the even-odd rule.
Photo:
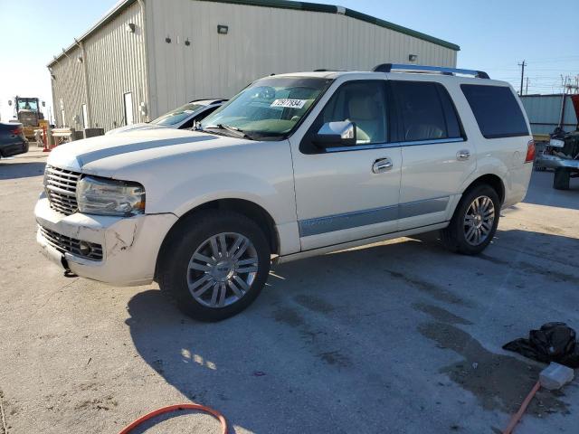
{"label": "upper chrome front grille of the white SUV beside the headlight", "polygon": [[54,211],[71,215],[78,211],[76,203],[76,184],[81,179],[79,172],[46,165],[44,189]]}

